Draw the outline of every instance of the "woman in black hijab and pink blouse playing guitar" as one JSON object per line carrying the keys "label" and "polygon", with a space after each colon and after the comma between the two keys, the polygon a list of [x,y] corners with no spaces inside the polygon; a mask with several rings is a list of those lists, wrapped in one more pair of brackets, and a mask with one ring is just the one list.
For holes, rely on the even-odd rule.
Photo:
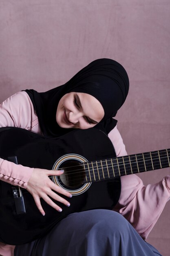
{"label": "woman in black hijab and pink blouse playing guitar", "polygon": [[[48,137],[95,126],[111,139],[117,156],[126,155],[113,117],[123,105],[128,87],[124,67],[111,59],[98,59],[60,87],[43,93],[26,90],[4,101],[0,109],[0,126],[16,126]],[[0,164],[1,179],[26,188],[42,215],[45,212],[40,198],[59,212],[62,208],[57,201],[69,207],[69,200],[64,200],[62,194],[68,198],[71,194],[55,186],[48,177],[60,175],[60,171],[17,166],[3,159]],[[14,255],[161,255],[143,238],[148,236],[170,197],[169,185],[169,176],[146,188],[136,175],[121,177],[120,197],[115,198],[114,211],[98,209],[70,214],[46,236],[16,246]],[[12,256],[13,249],[13,246],[1,243],[0,254]]]}

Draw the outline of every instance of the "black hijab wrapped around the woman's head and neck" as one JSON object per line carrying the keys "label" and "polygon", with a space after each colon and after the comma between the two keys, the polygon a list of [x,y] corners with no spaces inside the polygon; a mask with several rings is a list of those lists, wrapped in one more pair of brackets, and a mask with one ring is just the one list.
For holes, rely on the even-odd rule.
{"label": "black hijab wrapped around the woman's head and neck", "polygon": [[38,116],[44,136],[58,137],[74,130],[61,128],[56,122],[56,111],[60,99],[69,92],[84,92],[94,96],[104,108],[104,118],[95,126],[106,134],[117,120],[117,110],[123,105],[129,89],[126,70],[117,61],[101,58],[92,61],[67,83],[47,92],[26,90]]}

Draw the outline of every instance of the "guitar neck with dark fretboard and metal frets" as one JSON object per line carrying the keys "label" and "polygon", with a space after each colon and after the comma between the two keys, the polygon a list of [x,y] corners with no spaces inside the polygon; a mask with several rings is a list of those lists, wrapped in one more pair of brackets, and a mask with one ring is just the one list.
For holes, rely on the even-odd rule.
{"label": "guitar neck with dark fretboard and metal frets", "polygon": [[170,149],[85,162],[86,182],[170,167]]}

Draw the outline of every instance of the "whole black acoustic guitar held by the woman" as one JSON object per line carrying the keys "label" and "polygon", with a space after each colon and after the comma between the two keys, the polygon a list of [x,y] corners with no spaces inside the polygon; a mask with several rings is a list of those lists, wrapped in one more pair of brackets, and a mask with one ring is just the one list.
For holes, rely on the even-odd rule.
{"label": "whole black acoustic guitar held by the woman", "polygon": [[61,213],[42,200],[42,216],[28,191],[0,181],[0,241],[11,245],[43,236],[70,213],[113,209],[121,191],[120,176],[170,166],[170,149],[116,157],[110,139],[95,128],[55,139],[21,128],[0,128],[0,156],[23,166],[64,169],[51,179],[73,194],[65,197],[70,207],[57,202]]}

